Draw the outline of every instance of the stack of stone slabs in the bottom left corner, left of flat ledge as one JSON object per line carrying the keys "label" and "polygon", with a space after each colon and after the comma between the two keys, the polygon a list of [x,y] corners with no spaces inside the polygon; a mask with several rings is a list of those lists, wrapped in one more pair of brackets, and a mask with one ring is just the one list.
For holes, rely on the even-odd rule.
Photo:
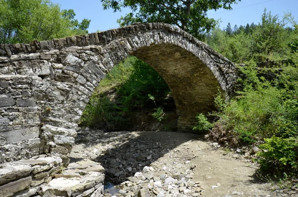
{"label": "stack of stone slabs in the bottom left corner, left of flat ledge", "polygon": [[35,156],[0,165],[0,197],[30,197],[59,172],[60,157]]}

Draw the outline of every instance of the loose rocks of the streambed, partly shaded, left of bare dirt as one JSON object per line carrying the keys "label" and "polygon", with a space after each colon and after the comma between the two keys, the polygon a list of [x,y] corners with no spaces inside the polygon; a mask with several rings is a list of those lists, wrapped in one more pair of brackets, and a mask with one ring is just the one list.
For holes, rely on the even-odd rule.
{"label": "loose rocks of the streambed, partly shaded, left of bare dirt", "polygon": [[[196,167],[191,164],[192,153],[181,155],[175,149],[177,144],[194,135],[188,133],[188,137],[185,134],[184,139],[178,139],[163,132],[155,137],[145,133],[107,133],[84,129],[78,131],[76,142],[79,144],[74,146],[71,155],[91,158],[106,169],[106,180],[118,186],[105,190],[105,196],[133,197],[139,193],[143,197],[202,196],[202,182],[192,180],[193,169]],[[183,146],[186,149],[187,143]],[[173,160],[170,163],[160,160],[164,155]]]}

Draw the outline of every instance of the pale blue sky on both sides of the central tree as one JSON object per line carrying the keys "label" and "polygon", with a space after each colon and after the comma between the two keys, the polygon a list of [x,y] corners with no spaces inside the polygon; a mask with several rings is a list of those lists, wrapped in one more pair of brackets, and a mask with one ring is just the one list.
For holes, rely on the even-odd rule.
{"label": "pale blue sky on both sides of the central tree", "polygon": [[[100,0],[52,0],[52,2],[59,3],[62,9],[74,9],[75,18],[79,21],[83,18],[91,19],[89,33],[117,28],[119,25],[116,20],[130,12],[129,9],[115,13],[112,10],[103,10]],[[208,12],[209,17],[220,19],[221,28],[226,27],[228,22],[232,27],[235,24],[239,27],[252,22],[258,24],[266,8],[273,15],[278,14],[280,18],[283,17],[284,12],[292,12],[298,21],[298,0],[241,0],[232,7],[233,10],[230,11],[211,10]]]}

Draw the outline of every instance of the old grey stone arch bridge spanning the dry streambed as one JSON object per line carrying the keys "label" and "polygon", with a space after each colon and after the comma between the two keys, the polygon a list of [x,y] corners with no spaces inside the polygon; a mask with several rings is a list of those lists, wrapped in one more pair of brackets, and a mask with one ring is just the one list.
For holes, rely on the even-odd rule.
{"label": "old grey stone arch bridge spanning the dry streambed", "polygon": [[0,163],[44,153],[68,155],[93,90],[129,55],[167,82],[178,131],[191,130],[197,113],[214,109],[219,88],[226,98],[234,92],[234,64],[169,24],[0,45]]}

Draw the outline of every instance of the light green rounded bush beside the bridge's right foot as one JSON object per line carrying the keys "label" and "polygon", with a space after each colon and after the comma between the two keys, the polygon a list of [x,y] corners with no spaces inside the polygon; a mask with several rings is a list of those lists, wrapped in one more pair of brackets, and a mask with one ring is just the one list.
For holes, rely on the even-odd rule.
{"label": "light green rounded bush beside the bridge's right foot", "polygon": [[283,112],[280,92],[274,87],[258,87],[242,92],[240,99],[232,99],[222,112],[214,115],[244,145],[277,131]]}

